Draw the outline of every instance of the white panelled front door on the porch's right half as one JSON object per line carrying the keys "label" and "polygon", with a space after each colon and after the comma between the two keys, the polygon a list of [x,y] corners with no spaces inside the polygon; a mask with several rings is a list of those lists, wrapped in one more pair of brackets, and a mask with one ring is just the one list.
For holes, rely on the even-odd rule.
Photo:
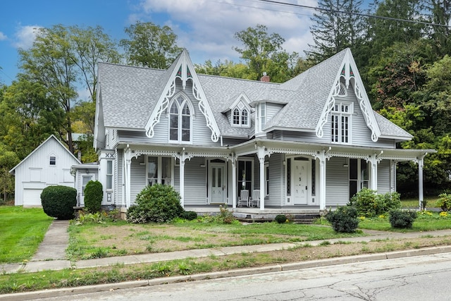
{"label": "white panelled front door on the porch's right half", "polygon": [[292,160],[292,193],[293,204],[307,205],[309,199],[307,189],[309,185],[309,161],[304,158],[295,158]]}

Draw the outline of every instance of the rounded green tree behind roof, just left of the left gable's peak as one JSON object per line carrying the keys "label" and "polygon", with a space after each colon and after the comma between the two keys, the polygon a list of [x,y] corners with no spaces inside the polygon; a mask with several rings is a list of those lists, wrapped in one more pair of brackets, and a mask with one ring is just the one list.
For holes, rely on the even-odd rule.
{"label": "rounded green tree behind roof, just left of the left gable's peak", "polygon": [[182,48],[175,43],[177,35],[171,27],[141,23],[125,28],[129,39],[119,44],[125,49],[125,59],[133,66],[166,69],[180,54]]}

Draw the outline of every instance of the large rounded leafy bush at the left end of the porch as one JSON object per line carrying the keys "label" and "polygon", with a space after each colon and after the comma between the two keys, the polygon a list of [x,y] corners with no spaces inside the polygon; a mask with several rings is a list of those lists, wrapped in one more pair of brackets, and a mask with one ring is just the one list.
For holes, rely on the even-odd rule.
{"label": "large rounded leafy bush at the left end of the porch", "polygon": [[135,219],[144,223],[148,221],[163,223],[181,216],[184,212],[180,205],[180,195],[169,185],[147,186],[136,196],[135,204],[137,208],[132,209],[133,217],[130,221]]}

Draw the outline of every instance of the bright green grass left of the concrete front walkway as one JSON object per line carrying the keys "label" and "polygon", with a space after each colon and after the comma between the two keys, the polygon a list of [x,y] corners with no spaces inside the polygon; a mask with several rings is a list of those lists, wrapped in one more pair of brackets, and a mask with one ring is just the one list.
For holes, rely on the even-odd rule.
{"label": "bright green grass left of the concrete front walkway", "polygon": [[0,263],[29,260],[51,222],[42,208],[0,207]]}

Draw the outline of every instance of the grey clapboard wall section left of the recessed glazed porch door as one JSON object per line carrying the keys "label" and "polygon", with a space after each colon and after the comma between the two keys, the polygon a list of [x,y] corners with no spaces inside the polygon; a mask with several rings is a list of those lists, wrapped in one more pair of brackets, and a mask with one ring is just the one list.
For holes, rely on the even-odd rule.
{"label": "grey clapboard wall section left of the recessed glazed porch door", "polygon": [[204,164],[201,157],[185,161],[185,205],[206,204],[206,167],[199,167]]}

